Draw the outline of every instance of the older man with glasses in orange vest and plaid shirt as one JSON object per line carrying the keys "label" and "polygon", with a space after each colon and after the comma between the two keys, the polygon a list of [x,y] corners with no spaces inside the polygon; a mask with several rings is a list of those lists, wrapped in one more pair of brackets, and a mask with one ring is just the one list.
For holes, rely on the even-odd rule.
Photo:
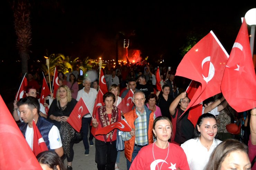
{"label": "older man with glasses in orange vest and plaid shirt", "polygon": [[137,156],[139,150],[153,143],[153,121],[154,112],[151,112],[145,105],[145,94],[143,91],[135,92],[133,95],[135,108],[124,114],[125,121],[131,127],[130,132],[122,132],[122,139],[125,141],[125,157],[127,170]]}

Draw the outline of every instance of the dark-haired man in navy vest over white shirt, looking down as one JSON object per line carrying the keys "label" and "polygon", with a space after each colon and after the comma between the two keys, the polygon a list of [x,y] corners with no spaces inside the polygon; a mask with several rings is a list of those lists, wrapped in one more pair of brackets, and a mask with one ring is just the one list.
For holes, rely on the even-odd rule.
{"label": "dark-haired man in navy vest over white shirt, looking down", "polygon": [[33,135],[35,133],[33,130],[33,122],[35,121],[36,127],[42,134],[48,150],[54,150],[59,157],[63,156],[64,152],[60,132],[52,122],[39,115],[40,105],[38,100],[35,97],[28,96],[20,99],[17,106],[20,111],[20,117],[24,121],[18,124],[18,126],[29,147],[33,149],[33,145],[35,145],[35,143],[33,144],[33,138],[35,137]]}

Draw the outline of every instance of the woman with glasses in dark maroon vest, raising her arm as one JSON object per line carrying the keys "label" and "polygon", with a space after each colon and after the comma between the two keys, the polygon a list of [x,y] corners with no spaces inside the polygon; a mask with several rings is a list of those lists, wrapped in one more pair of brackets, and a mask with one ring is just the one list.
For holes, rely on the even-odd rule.
{"label": "woman with glasses in dark maroon vest, raising her arm", "polygon": [[[172,143],[181,145],[193,136],[194,125],[188,119],[189,111],[184,113],[189,103],[190,99],[186,96],[186,92],[182,92],[173,100],[169,107],[173,123]],[[183,116],[180,117],[182,114]]]}

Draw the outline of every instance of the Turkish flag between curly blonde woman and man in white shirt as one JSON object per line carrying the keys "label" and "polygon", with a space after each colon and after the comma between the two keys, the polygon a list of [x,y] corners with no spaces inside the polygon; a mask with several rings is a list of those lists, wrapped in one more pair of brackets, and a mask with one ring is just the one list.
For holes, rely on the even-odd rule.
{"label": "Turkish flag between curly blonde woman and man in white shirt", "polygon": [[82,117],[85,114],[90,114],[83,98],[81,97],[76,103],[74,109],[70,113],[70,116],[67,119],[67,122],[77,131],[80,132],[82,127]]}

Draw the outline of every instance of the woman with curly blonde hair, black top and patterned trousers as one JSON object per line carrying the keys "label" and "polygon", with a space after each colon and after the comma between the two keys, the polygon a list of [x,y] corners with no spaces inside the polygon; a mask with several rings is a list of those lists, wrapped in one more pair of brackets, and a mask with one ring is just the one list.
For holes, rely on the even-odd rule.
{"label": "woman with curly blonde hair, black top and patterned trousers", "polygon": [[72,98],[70,89],[64,85],[57,90],[56,99],[53,100],[48,111],[48,118],[53,120],[53,123],[60,130],[61,141],[63,144],[64,153],[67,157],[67,170],[72,170],[72,161],[74,158],[74,143],[71,139],[74,137],[75,130],[67,122],[77,101]]}

